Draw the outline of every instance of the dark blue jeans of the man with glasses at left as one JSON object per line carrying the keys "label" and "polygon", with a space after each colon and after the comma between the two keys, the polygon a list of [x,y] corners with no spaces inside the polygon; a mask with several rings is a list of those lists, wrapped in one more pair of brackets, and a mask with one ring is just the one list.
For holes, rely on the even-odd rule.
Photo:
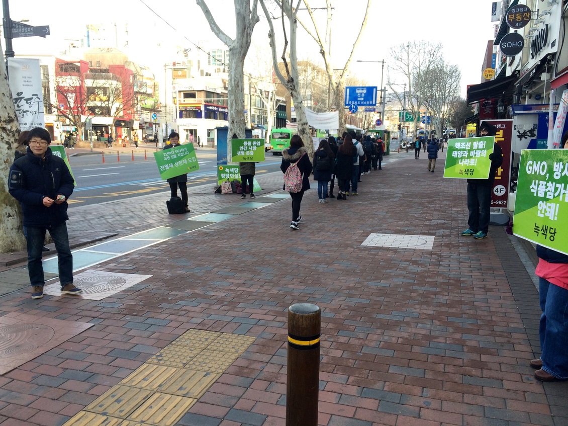
{"label": "dark blue jeans of the man with glasses at left", "polygon": [[55,243],[57,250],[57,266],[59,268],[59,281],[61,286],[73,283],[73,255],[69,248],[69,236],[67,224],[62,222],[50,228],[26,227],[28,233],[28,273],[30,274],[31,286],[43,286],[43,264],[41,263],[41,249],[45,239],[45,231]]}

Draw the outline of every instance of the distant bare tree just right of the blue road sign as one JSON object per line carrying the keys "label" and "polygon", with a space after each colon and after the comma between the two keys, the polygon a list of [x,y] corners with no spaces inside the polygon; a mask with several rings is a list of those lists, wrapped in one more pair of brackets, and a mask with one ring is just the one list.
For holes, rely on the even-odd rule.
{"label": "distant bare tree just right of the blue road sign", "polygon": [[[415,134],[420,120],[420,108],[424,104],[422,86],[425,80],[423,76],[440,61],[441,51],[441,43],[433,44],[426,41],[408,41],[390,48],[392,58],[390,70],[404,78],[406,93],[400,91],[400,82],[391,81],[390,70],[387,74],[387,86],[401,104],[406,100],[406,110],[414,115],[413,131]],[[418,87],[414,86],[415,83]]]}

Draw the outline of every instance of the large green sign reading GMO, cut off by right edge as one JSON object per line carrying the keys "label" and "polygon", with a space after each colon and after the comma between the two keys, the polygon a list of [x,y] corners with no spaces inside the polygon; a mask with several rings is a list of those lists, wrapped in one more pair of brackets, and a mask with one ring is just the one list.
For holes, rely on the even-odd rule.
{"label": "large green sign reading GMO, cut off by right edge", "polygon": [[568,149],[523,149],[516,194],[513,234],[568,254]]}

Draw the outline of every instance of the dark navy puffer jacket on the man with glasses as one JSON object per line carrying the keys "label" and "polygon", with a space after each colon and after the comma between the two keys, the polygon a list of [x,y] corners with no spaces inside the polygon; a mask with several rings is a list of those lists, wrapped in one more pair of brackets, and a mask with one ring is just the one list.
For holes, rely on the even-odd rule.
{"label": "dark navy puffer jacket on the man with glasses", "polygon": [[[12,164],[8,185],[10,195],[22,204],[24,226],[49,227],[69,219],[66,200],[75,187],[73,177],[65,161],[53,155],[51,149],[41,158],[28,148],[26,156]],[[59,194],[65,195],[64,202],[43,205],[44,197],[55,200]]]}

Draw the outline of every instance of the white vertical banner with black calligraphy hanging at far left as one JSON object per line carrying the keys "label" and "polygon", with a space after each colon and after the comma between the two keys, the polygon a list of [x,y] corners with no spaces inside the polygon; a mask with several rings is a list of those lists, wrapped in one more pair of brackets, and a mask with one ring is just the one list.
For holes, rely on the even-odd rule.
{"label": "white vertical banner with black calligraphy hanging at far left", "polygon": [[45,128],[39,59],[8,58],[8,76],[20,130]]}

